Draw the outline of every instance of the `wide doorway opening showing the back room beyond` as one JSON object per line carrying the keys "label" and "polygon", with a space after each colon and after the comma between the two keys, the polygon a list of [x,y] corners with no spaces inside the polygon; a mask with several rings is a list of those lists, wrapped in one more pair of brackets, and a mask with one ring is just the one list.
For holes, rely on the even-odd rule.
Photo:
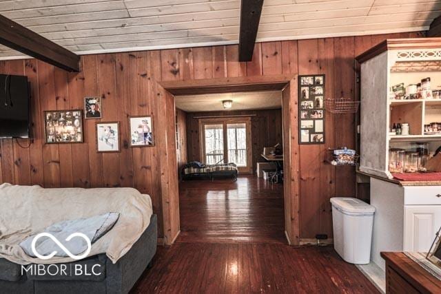
{"label": "wide doorway opening showing the back room beyond", "polygon": [[282,91],[176,95],[174,101],[178,142],[187,144],[178,162],[176,242],[287,243],[283,180],[271,178],[276,163],[262,156],[283,145]]}

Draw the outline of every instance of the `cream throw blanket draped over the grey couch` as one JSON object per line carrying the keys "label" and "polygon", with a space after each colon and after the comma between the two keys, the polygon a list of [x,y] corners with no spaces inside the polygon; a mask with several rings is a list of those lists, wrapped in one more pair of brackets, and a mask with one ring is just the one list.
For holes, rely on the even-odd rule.
{"label": "cream throw blanket draped over the grey couch", "polygon": [[0,258],[17,264],[54,264],[74,261],[32,258],[19,243],[63,220],[90,218],[109,211],[120,214],[115,226],[92,244],[90,256],[106,253],[117,262],[150,224],[150,197],[132,188],[43,189],[40,186],[0,185]]}

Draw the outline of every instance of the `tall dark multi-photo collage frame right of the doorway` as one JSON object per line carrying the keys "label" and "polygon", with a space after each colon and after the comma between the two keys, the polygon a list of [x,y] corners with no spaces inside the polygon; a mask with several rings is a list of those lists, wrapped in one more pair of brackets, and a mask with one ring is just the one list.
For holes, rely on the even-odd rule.
{"label": "tall dark multi-photo collage frame right of the doorway", "polygon": [[325,74],[298,77],[298,143],[325,144]]}

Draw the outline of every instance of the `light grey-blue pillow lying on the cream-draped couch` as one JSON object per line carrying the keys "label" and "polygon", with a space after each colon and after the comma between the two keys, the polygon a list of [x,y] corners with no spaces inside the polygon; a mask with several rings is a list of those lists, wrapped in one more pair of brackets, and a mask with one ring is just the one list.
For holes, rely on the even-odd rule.
{"label": "light grey-blue pillow lying on the cream-draped couch", "polygon": [[[63,246],[66,247],[73,255],[79,255],[88,249],[88,242],[81,237],[74,237],[70,241],[66,241],[72,233],[85,234],[91,244],[99,240],[105,233],[110,231],[116,221],[119,218],[119,213],[108,212],[101,214],[100,216],[92,216],[91,218],[79,218],[76,220],[63,220],[47,227],[43,232],[50,233],[54,236]],[[42,232],[40,232],[42,233]],[[38,235],[30,235],[28,238],[20,243],[21,248],[26,254],[35,258],[37,255],[32,251],[32,240]],[[57,251],[54,256],[67,257],[68,253],[63,251],[54,240],[49,237],[43,236],[35,243],[35,249],[40,255],[50,255],[50,253]]]}

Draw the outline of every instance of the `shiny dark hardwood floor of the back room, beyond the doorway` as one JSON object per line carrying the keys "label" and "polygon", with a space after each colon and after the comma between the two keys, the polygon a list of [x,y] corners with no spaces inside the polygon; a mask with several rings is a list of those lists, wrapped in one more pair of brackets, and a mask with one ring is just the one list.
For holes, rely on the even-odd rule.
{"label": "shiny dark hardwood floor of the back room, beyond the doorway", "polygon": [[283,185],[263,178],[180,182],[179,209],[177,242],[287,243]]}

